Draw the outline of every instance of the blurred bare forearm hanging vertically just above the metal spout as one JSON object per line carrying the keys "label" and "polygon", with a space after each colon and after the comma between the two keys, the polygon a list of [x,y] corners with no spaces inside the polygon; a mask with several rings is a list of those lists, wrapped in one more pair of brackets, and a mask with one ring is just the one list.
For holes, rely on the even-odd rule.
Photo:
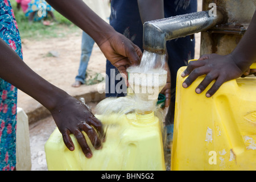
{"label": "blurred bare forearm hanging vertically just above the metal spout", "polygon": [[163,0],[138,0],[142,23],[164,18]]}

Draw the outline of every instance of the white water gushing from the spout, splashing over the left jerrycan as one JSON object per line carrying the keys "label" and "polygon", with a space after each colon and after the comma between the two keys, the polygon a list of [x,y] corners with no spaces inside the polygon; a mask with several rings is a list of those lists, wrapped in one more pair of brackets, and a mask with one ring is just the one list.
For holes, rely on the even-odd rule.
{"label": "white water gushing from the spout, splashing over the left jerrycan", "polygon": [[167,71],[164,70],[166,55],[158,55],[144,51],[141,64],[127,68],[129,73],[130,92],[126,97],[106,98],[96,107],[97,114],[120,113],[130,111],[155,111],[158,94],[167,81]]}

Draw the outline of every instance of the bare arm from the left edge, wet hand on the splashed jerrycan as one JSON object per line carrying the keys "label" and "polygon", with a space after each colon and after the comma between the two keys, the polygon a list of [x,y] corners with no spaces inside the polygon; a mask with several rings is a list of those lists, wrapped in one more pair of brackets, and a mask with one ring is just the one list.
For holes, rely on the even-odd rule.
{"label": "bare arm from the left edge, wet hand on the splashed jerrycan", "polygon": [[[0,77],[45,106],[51,112],[69,150],[74,150],[73,142],[69,137],[72,133],[85,156],[90,158],[92,152],[81,131],[88,134],[95,148],[100,148],[101,136],[104,133],[101,122],[85,105],[32,71],[2,39],[0,39],[0,50]],[[99,131],[99,135],[91,126]]]}

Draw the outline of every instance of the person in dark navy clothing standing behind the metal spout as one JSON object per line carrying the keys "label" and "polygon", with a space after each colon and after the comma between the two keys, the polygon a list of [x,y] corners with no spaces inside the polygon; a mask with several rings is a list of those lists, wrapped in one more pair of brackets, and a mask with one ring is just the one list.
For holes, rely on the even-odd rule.
{"label": "person in dark navy clothing standing behind the metal spout", "polygon": [[[110,25],[116,31],[125,35],[133,43],[135,43],[143,51],[143,23],[149,20],[168,18],[171,16],[193,13],[197,11],[196,0],[112,0]],[[168,140],[172,140],[174,127],[174,108],[175,108],[175,90],[176,90],[176,74],[180,67],[187,65],[188,60],[195,56],[195,40],[191,41],[190,36],[167,41],[168,67],[170,68],[171,78],[167,81],[167,85],[162,90],[166,96],[166,107],[168,113],[166,115],[166,129]],[[106,61],[106,97],[122,97],[124,93],[110,93],[110,88],[116,88],[119,80],[111,77],[111,69],[116,69]],[[118,71],[115,71],[117,74]],[[122,80],[120,80],[122,81]],[[123,88],[121,88],[123,89]],[[116,91],[116,90],[115,90]]]}

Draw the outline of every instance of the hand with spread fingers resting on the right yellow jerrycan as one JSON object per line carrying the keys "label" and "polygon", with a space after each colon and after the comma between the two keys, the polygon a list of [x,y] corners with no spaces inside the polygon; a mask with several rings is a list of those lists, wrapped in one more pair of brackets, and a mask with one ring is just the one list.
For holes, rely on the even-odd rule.
{"label": "hand with spread fingers resting on the right yellow jerrycan", "polygon": [[237,66],[232,55],[210,54],[201,56],[197,61],[189,62],[181,76],[189,75],[182,84],[184,88],[188,88],[197,77],[206,75],[197,86],[196,93],[203,92],[210,82],[216,80],[206,93],[207,97],[211,97],[224,82],[238,78],[242,74],[242,70]]}

